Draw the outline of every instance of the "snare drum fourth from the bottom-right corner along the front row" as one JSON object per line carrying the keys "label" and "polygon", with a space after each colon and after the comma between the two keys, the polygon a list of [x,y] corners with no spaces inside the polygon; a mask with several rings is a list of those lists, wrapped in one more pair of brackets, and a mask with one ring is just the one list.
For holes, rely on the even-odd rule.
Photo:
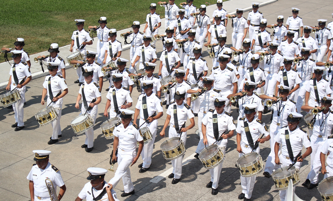
{"label": "snare drum fourth from the bottom-right corner along the front row", "polygon": [[199,159],[206,169],[212,169],[223,161],[223,151],[216,144],[209,145],[199,154]]}

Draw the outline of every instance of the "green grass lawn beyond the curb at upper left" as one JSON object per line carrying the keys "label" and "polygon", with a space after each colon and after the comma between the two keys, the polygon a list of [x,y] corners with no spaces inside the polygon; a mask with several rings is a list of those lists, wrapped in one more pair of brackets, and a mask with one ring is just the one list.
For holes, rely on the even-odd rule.
{"label": "green grass lawn beyond the curb at upper left", "polygon": [[[185,0],[176,0],[175,3]],[[51,43],[69,45],[71,35],[77,30],[74,20],[85,19],[85,29],[98,25],[100,17],[107,17],[109,28],[122,30],[131,27],[133,21],[146,23],[152,0],[0,0],[0,47],[14,47],[16,38],[24,38],[24,50],[29,54],[46,51]],[[215,0],[194,0],[201,4]],[[164,18],[164,7],[157,6]],[[208,16],[211,15],[207,13]],[[143,31],[143,30],[141,30]],[[96,34],[94,34],[96,37]],[[3,56],[0,62],[3,62]]]}

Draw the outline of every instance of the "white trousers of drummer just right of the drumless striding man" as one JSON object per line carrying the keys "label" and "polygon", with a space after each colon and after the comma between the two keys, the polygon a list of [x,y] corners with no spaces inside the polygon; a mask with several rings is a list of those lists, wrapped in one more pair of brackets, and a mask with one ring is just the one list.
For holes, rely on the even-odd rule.
{"label": "white trousers of drummer just right of the drumless striding man", "polygon": [[[144,122],[145,122],[145,120],[143,120],[143,119],[140,119],[140,121],[139,121],[140,125],[143,124]],[[153,155],[154,142],[155,142],[158,122],[157,122],[157,120],[154,120],[151,123],[149,123],[148,125],[147,125],[147,123],[145,123],[145,124],[149,128],[150,132],[152,133],[152,140],[149,143],[144,145],[144,148],[142,149],[142,152],[141,152],[141,157],[142,157],[142,160],[144,161],[142,167],[149,168],[150,165],[152,164],[152,155]],[[145,125],[143,125],[143,126],[145,126]]]}

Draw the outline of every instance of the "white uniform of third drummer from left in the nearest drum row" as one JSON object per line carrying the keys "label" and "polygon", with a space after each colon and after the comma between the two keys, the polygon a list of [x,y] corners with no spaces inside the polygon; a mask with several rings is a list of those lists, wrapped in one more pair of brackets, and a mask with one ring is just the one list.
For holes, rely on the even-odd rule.
{"label": "white uniform of third drummer from left in the nearest drum row", "polygon": [[[85,81],[79,90],[79,94],[82,95],[82,88],[84,90],[84,94],[87,100],[87,105],[89,107],[89,104],[91,101],[96,97],[96,101],[98,97],[101,97],[101,92],[100,92],[100,87],[93,81],[90,82],[90,84],[87,84]],[[84,107],[83,103],[83,96],[81,98],[82,100],[82,105],[81,105],[81,113],[84,115],[86,113],[86,108]],[[86,114],[90,114],[90,116],[94,119],[94,124],[97,118],[97,113],[98,113],[98,105],[95,105],[90,111],[88,111]],[[88,148],[94,147],[94,126],[91,127],[89,130],[86,132],[86,141],[85,144],[88,145]]]}

